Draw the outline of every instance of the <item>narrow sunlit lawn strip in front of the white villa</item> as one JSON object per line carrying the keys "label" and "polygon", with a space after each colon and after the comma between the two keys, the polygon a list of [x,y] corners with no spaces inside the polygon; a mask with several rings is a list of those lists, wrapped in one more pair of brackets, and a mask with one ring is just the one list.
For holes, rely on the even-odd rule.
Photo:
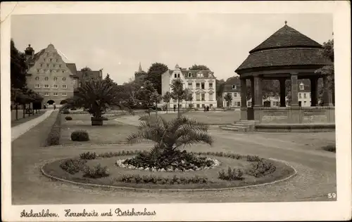
{"label": "narrow sunlit lawn strip in front of the white villa", "polygon": [[[239,121],[241,112],[240,111],[220,111],[220,112],[186,112],[183,114],[190,119],[196,119],[199,122],[203,122],[210,125],[222,125],[232,124],[234,121]],[[161,117],[166,120],[174,119],[177,117],[177,112],[168,114],[161,114]]]}

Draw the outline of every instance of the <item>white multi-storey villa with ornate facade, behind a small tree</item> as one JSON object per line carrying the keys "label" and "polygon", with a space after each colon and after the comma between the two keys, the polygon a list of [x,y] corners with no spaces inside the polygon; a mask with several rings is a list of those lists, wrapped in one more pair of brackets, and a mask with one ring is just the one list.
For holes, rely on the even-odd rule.
{"label": "white multi-storey villa with ornate facade, behind a small tree", "polygon": [[[173,79],[181,79],[184,89],[189,89],[192,93],[193,100],[191,102],[183,100],[180,108],[189,106],[193,107],[217,107],[216,101],[216,84],[214,72],[210,70],[181,70],[179,65],[175,66],[175,70],[168,70],[161,75],[161,93],[171,92],[171,83]],[[171,100],[169,108],[177,107],[177,101]]]}

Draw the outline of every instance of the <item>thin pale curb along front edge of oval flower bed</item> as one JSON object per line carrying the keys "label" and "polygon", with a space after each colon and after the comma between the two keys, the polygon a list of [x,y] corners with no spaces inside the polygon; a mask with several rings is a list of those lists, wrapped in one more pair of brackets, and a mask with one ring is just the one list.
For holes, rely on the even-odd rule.
{"label": "thin pale curb along front edge of oval flower bed", "polygon": [[[268,159],[272,159],[272,158],[268,158]],[[254,184],[254,185],[244,185],[244,186],[240,186],[240,187],[232,187],[232,188],[210,188],[210,189],[153,189],[153,188],[130,188],[130,187],[120,187],[120,186],[115,186],[115,185],[100,185],[100,184],[93,184],[93,183],[80,183],[80,182],[75,182],[75,181],[68,181],[66,179],[63,178],[58,178],[56,176],[51,176],[50,174],[47,174],[44,171],[44,166],[46,166],[46,164],[44,164],[41,168],[40,171],[42,171],[42,174],[48,178],[54,179],[56,181],[61,181],[61,182],[65,182],[65,183],[71,183],[74,185],[82,185],[82,186],[89,186],[89,187],[97,187],[97,188],[109,188],[109,189],[118,189],[118,190],[133,190],[133,191],[146,191],[146,192],[201,192],[201,191],[226,191],[226,190],[237,190],[237,189],[244,189],[244,188],[256,188],[259,186],[264,186],[264,185],[271,185],[274,183],[279,183],[279,182],[283,182],[283,181],[287,181],[290,178],[296,176],[297,174],[297,170],[291,166],[290,164],[288,164],[287,162],[284,162],[282,160],[279,159],[272,159],[274,161],[277,162],[282,162],[284,164],[286,164],[287,166],[291,167],[291,169],[294,169],[294,174],[291,174],[290,176],[287,176],[286,178],[282,178],[276,181],[272,181],[272,182],[268,182],[268,183],[260,183],[260,184]]]}

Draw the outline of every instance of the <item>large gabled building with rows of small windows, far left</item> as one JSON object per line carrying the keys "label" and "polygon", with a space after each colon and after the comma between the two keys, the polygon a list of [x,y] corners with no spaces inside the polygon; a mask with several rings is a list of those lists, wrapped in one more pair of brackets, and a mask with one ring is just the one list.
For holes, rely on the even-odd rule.
{"label": "large gabled building with rows of small windows, far left", "polygon": [[29,66],[27,86],[44,97],[43,103],[59,104],[73,96],[78,86],[75,64],[65,63],[53,44],[38,53],[29,45],[25,56]]}

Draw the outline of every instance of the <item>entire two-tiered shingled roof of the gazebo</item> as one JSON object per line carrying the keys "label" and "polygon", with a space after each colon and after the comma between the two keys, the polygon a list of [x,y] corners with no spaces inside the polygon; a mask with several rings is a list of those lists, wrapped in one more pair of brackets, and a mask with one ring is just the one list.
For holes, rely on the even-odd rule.
{"label": "entire two-tiered shingled roof of the gazebo", "polygon": [[321,50],[321,44],[285,24],[249,51],[249,56],[235,72],[265,67],[331,65],[327,58],[322,57]]}

